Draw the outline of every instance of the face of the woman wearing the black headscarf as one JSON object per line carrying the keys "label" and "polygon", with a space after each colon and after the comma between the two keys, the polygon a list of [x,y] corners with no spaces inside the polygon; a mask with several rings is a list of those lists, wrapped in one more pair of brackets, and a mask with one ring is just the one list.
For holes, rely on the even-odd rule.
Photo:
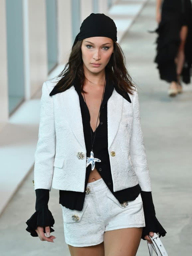
{"label": "face of the woman wearing the black headscarf", "polygon": [[81,51],[84,71],[100,73],[113,53],[113,40],[108,37],[90,37],[82,42]]}

